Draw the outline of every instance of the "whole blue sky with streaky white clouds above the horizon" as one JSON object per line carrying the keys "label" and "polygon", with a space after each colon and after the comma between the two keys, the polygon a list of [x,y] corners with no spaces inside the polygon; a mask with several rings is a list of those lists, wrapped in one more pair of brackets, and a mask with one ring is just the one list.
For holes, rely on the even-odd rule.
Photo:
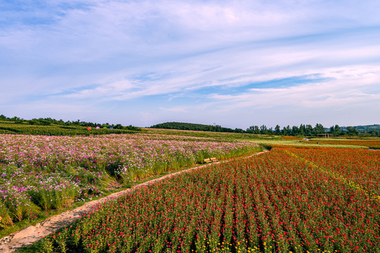
{"label": "whole blue sky with streaky white clouds above the horizon", "polygon": [[379,0],[0,0],[0,114],[380,124]]}

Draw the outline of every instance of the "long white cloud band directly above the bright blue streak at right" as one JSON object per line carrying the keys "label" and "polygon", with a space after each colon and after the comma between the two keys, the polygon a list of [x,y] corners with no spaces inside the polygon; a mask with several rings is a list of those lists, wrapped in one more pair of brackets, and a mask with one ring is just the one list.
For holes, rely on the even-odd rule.
{"label": "long white cloud band directly above the bright blue streak at right", "polygon": [[[354,50],[345,45],[341,45],[340,49],[336,46],[326,46],[320,50],[313,44],[273,48],[234,48],[234,50],[228,49],[193,58],[152,64],[149,68],[151,74],[144,74],[145,68],[135,68],[135,72],[126,70],[124,74],[118,72],[115,77],[110,77],[112,81],[103,80],[103,84],[94,89],[79,91],[67,97],[129,100],[186,91],[197,92],[198,89],[214,86],[228,89],[228,87],[300,76],[309,76],[310,79],[315,77],[334,79],[341,78],[341,75],[345,74],[346,79],[348,77],[355,77],[356,80],[364,77],[368,79],[369,77],[361,72],[358,76],[352,66],[344,66],[344,63],[354,64],[356,61],[362,61],[362,58],[380,58],[380,53],[374,52],[380,52],[380,46],[361,46]],[[339,71],[332,71],[334,67],[339,68]],[[377,68],[376,65],[368,67],[375,70]],[[136,79],[138,72],[143,75],[143,79]],[[377,78],[376,74],[372,77]],[[120,86],[121,84],[123,85]]]}

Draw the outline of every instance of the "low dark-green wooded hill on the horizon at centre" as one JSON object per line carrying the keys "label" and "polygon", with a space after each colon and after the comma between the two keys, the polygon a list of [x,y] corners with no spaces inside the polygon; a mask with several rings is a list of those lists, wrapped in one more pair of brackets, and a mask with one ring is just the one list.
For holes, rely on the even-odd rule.
{"label": "low dark-green wooded hill on the horizon at centre", "polygon": [[205,125],[205,124],[193,124],[183,122],[165,122],[162,124],[156,124],[150,126],[154,129],[178,129],[178,130],[192,130],[192,131],[215,131],[225,133],[242,133],[243,129],[230,129],[219,125]]}

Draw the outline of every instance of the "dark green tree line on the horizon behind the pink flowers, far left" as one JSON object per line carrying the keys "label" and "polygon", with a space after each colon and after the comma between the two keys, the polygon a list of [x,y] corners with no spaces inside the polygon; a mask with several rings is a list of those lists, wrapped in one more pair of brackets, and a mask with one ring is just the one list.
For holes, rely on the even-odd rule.
{"label": "dark green tree line on the horizon behind the pink flowers, far left", "polygon": [[80,121],[79,119],[77,121],[63,121],[62,119],[52,119],[51,117],[47,118],[39,118],[39,119],[21,119],[20,117],[6,117],[5,115],[0,115],[0,120],[2,121],[8,121],[8,122],[14,122],[15,124],[31,124],[31,125],[37,125],[37,126],[51,126],[52,124],[60,125],[60,126],[106,126],[113,127],[114,129],[128,129],[133,131],[140,131],[139,127],[136,126],[122,126],[122,124],[98,124],[93,122],[84,122]]}

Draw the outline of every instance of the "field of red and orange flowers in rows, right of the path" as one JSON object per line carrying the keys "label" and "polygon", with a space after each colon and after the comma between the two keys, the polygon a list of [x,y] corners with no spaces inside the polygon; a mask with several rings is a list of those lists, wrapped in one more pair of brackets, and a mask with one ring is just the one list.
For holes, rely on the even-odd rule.
{"label": "field of red and orange flowers in rows, right of the path", "polygon": [[44,252],[379,252],[380,153],[273,148],[98,206]]}

